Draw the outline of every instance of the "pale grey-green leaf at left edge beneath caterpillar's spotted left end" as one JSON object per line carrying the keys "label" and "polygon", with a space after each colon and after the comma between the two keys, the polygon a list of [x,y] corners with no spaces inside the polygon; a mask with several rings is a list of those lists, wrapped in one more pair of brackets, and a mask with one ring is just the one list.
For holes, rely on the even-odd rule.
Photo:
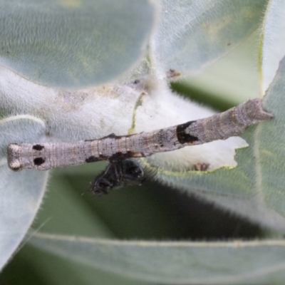
{"label": "pale grey-green leaf at left edge beneath caterpillar's spotted left end", "polygon": [[9,170],[9,142],[40,140],[43,121],[28,115],[0,120],[0,268],[10,259],[31,226],[46,188],[48,172]]}

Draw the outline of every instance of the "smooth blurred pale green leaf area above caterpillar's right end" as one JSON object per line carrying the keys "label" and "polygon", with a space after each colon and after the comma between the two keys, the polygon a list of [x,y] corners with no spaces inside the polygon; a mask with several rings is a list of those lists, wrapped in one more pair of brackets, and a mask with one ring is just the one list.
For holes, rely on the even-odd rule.
{"label": "smooth blurred pale green leaf area above caterpillar's right end", "polygon": [[[260,31],[255,31],[226,56],[206,66],[202,72],[186,78],[185,86],[199,91],[193,92],[193,98],[202,99],[207,105],[213,103],[213,106],[219,108],[221,102],[228,102],[232,106],[259,97],[261,93],[257,71],[259,38]],[[205,99],[199,96],[201,92],[207,94],[207,97],[204,95]]]}

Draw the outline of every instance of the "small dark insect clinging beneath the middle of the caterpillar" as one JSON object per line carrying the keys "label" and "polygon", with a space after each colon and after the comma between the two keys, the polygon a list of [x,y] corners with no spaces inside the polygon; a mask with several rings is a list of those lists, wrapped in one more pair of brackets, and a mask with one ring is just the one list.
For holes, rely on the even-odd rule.
{"label": "small dark insect clinging beneath the middle of the caterpillar", "polygon": [[108,194],[112,189],[128,185],[141,185],[147,177],[154,177],[156,172],[156,168],[144,171],[139,162],[131,158],[110,162],[106,169],[95,177],[91,191],[95,195],[103,195]]}

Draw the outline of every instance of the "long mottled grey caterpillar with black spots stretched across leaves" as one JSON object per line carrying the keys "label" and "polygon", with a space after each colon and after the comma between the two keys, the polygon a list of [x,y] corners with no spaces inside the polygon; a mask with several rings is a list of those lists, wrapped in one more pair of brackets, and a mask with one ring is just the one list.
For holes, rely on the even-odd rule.
{"label": "long mottled grey caterpillar with black spots stretched across leaves", "polygon": [[209,118],[190,121],[149,133],[117,136],[78,142],[11,143],[8,165],[11,170],[48,170],[108,160],[118,162],[131,157],[147,157],[213,140],[241,135],[249,125],[273,118],[262,109],[260,99],[249,100]]}

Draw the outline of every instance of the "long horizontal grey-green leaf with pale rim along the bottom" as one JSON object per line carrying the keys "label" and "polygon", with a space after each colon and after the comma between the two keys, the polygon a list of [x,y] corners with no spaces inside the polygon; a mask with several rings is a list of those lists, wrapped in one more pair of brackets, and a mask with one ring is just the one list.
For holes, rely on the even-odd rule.
{"label": "long horizontal grey-green leaf with pale rim along the bottom", "polygon": [[285,277],[282,240],[120,242],[37,233],[29,243],[96,269],[156,284],[274,284]]}

